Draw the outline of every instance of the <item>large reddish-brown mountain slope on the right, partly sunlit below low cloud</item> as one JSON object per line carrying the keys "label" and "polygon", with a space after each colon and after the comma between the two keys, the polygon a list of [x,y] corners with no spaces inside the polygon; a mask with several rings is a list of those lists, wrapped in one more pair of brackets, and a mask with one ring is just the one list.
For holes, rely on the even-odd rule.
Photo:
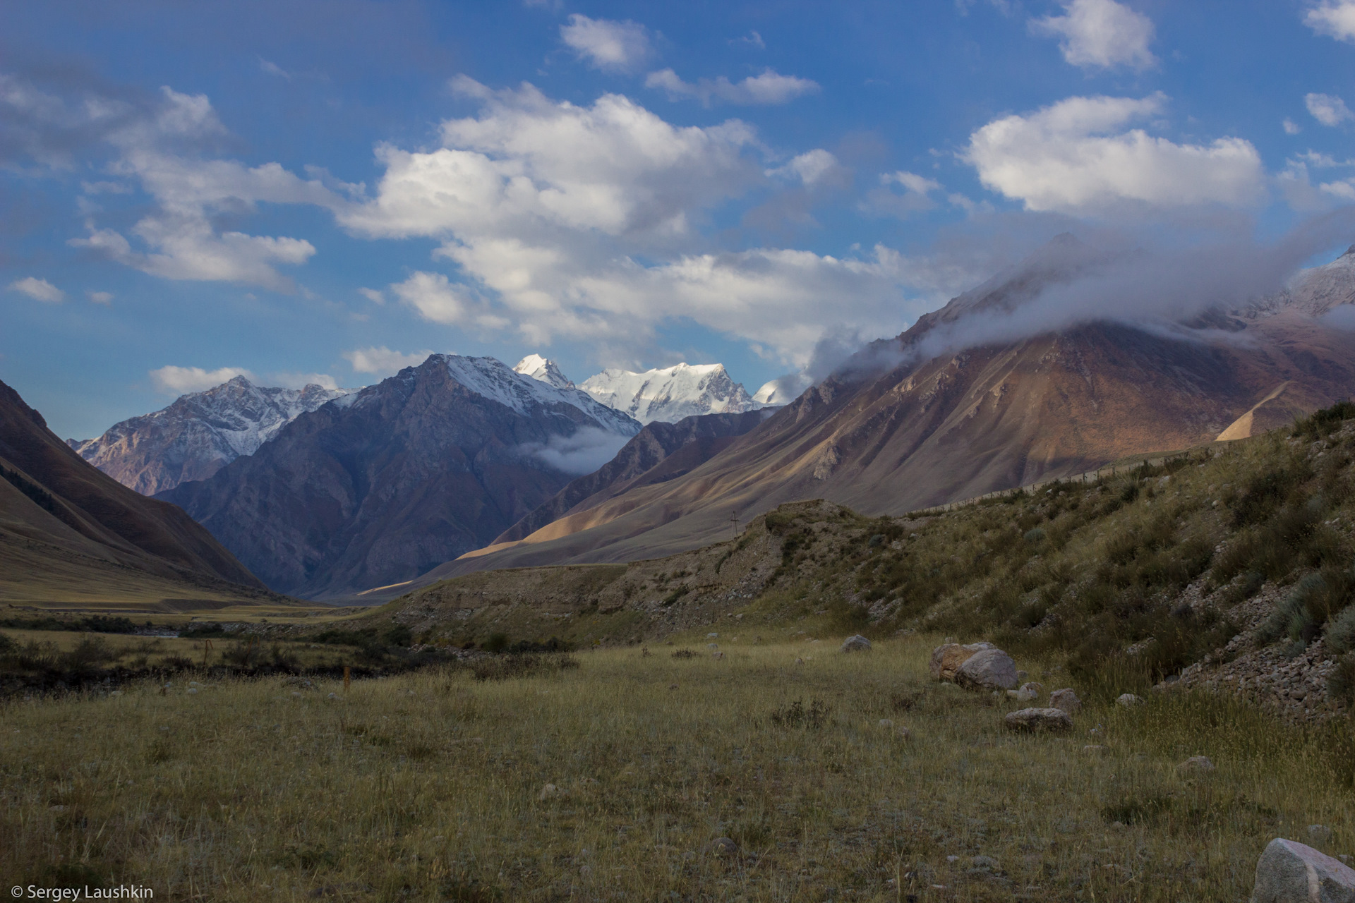
{"label": "large reddish-brown mountain slope on the right, partly sunlit below low cloud", "polygon": [[1286,292],[1264,309],[1220,314],[1209,332],[1093,322],[906,360],[938,324],[1019,305],[1038,282],[1027,268],[957,298],[959,313],[943,309],[877,344],[905,359],[888,372],[832,376],[684,477],[570,513],[420,582],[673,554],[724,535],[732,512],[747,520],[802,498],[898,514],[1228,429],[1229,437],[1260,432],[1355,389],[1355,333],[1321,320],[1355,296],[1341,290],[1355,288],[1355,256],[1337,264],[1322,268],[1321,299]]}

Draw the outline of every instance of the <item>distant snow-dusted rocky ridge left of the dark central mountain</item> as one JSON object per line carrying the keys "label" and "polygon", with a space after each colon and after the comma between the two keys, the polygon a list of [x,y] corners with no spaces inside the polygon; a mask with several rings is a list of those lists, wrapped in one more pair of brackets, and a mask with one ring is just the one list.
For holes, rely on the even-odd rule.
{"label": "distant snow-dusted rocky ridge left of the dark central mountain", "polygon": [[252,455],[298,416],[355,389],[255,386],[244,376],[180,395],[168,408],[131,417],[98,439],[70,445],[87,462],[145,495],[206,479]]}

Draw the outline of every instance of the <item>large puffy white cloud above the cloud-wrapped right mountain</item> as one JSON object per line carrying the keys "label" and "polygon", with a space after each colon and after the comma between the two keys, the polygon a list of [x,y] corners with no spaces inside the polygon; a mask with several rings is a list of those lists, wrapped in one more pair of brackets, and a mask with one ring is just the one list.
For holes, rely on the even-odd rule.
{"label": "large puffy white cloud above the cloud-wrapped right mountain", "polygon": [[970,135],[963,158],[985,187],[1027,210],[1102,213],[1150,207],[1247,206],[1263,195],[1260,154],[1243,138],[1179,145],[1131,122],[1167,97],[1068,97],[1028,115],[993,120]]}

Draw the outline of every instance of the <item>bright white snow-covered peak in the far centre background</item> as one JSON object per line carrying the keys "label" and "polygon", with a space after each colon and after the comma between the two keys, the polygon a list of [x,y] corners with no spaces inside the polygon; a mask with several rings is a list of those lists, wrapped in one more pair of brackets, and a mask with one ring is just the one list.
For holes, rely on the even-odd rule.
{"label": "bright white snow-covered peak in the far centre background", "polygon": [[580,389],[642,424],[762,408],[729,378],[724,364],[676,364],[642,374],[608,368],[585,379]]}

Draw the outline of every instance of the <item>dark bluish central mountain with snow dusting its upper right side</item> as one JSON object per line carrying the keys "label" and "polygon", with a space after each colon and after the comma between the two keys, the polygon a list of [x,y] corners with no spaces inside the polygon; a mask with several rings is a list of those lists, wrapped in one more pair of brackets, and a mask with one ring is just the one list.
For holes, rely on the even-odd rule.
{"label": "dark bluish central mountain with snow dusting its upper right side", "polygon": [[268,586],[333,598],[491,543],[640,429],[581,390],[493,357],[432,355],[157,498]]}

